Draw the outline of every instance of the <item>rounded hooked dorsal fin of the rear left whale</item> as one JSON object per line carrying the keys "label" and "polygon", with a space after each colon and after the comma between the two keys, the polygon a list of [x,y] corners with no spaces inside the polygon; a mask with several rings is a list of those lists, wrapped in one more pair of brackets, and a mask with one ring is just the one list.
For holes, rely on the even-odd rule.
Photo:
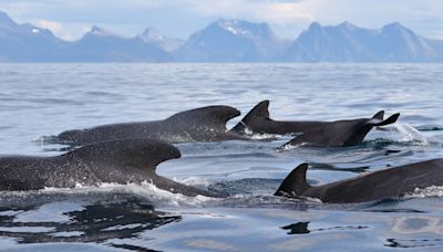
{"label": "rounded hooked dorsal fin of the rear left whale", "polygon": [[207,106],[177,113],[167,120],[195,122],[198,125],[209,124],[226,128],[226,123],[240,115],[240,112],[230,106]]}

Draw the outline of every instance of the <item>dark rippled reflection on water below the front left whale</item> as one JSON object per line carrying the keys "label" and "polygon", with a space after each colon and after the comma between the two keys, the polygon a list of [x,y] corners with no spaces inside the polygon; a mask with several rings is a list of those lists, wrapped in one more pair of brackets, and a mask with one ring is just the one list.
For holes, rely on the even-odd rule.
{"label": "dark rippled reflection on water below the front left whale", "polygon": [[[70,201],[49,204],[54,203],[72,204]],[[39,221],[23,217],[32,212],[38,217],[39,209],[43,208],[45,204],[1,208],[0,237],[12,238],[18,243],[92,242],[140,251],[145,248],[125,244],[122,241],[136,239],[147,230],[182,220],[181,216],[156,211],[152,204],[133,198],[79,204],[81,210],[61,213],[65,220],[59,217],[59,221]]]}

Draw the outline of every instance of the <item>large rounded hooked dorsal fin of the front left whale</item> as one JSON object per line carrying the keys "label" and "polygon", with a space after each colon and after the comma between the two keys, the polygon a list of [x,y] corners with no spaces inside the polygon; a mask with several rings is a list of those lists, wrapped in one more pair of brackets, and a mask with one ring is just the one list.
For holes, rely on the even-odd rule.
{"label": "large rounded hooked dorsal fin of the front left whale", "polygon": [[179,158],[179,150],[171,144],[147,138],[100,141],[80,147],[63,155],[84,162],[103,162],[109,166],[135,167],[155,171],[158,164]]}

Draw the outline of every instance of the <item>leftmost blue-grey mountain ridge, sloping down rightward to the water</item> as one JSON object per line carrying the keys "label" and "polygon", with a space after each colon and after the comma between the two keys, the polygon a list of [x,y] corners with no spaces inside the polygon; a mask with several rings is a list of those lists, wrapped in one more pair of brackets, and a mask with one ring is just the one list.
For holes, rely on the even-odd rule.
{"label": "leftmost blue-grey mountain ridge, sloping down rightward to the water", "polygon": [[123,38],[93,27],[69,42],[47,29],[18,24],[0,12],[0,62],[171,62],[173,56],[141,38]]}

